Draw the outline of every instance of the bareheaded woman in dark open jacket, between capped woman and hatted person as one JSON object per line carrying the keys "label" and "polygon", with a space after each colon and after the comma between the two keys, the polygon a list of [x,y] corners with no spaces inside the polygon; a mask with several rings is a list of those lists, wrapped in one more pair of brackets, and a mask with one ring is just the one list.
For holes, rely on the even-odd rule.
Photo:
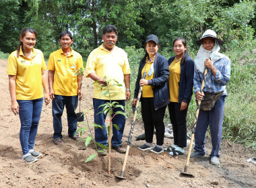
{"label": "bareheaded woman in dark open jacket, between capped woman and hatted person", "polygon": [[167,148],[170,155],[184,154],[187,146],[187,107],[192,96],[194,61],[189,57],[185,38],[173,42],[176,56],[168,60],[170,103],[168,109],[172,123],[174,144]]}

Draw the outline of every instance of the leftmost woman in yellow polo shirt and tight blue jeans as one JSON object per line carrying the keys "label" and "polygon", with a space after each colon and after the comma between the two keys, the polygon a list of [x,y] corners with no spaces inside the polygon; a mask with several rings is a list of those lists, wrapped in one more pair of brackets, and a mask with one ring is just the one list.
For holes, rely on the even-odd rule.
{"label": "leftmost woman in yellow polo shirt and tight blue jeans", "polygon": [[34,141],[43,97],[46,105],[50,102],[44,56],[40,50],[34,48],[35,44],[36,31],[31,28],[22,30],[20,44],[17,50],[9,55],[7,65],[11,111],[15,115],[20,115],[22,159],[29,163],[35,162],[42,155],[34,150]]}

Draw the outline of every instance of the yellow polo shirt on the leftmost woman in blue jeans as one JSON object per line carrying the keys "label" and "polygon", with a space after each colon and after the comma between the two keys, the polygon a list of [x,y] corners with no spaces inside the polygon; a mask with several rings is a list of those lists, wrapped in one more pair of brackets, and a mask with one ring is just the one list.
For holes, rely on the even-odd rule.
{"label": "yellow polo shirt on the leftmost woman in blue jeans", "polygon": [[32,49],[32,58],[26,58],[20,48],[11,52],[8,58],[7,75],[16,75],[16,99],[34,100],[44,96],[42,91],[42,71],[45,70],[44,55],[41,50]]}

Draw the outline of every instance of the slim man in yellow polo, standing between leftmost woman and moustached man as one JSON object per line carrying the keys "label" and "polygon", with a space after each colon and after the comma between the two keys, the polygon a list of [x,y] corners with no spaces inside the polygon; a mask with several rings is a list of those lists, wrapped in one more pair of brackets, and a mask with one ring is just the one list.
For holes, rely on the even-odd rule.
{"label": "slim man in yellow polo, standing between leftmost woman and moustached man", "polygon": [[63,143],[61,116],[66,106],[67,124],[69,126],[69,138],[79,140],[78,135],[74,135],[77,129],[77,116],[75,109],[79,100],[82,99],[82,76],[75,76],[73,71],[83,68],[82,56],[72,50],[73,37],[70,32],[61,33],[59,42],[61,49],[51,53],[48,62],[48,82],[50,97],[53,100],[53,142],[57,145]]}

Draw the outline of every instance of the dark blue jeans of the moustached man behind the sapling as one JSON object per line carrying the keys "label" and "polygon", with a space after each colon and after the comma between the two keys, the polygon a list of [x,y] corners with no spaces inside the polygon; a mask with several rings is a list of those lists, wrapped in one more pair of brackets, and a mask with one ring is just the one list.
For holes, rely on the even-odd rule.
{"label": "dark blue jeans of the moustached man behind the sapling", "polygon": [[[125,106],[125,100],[115,100],[115,101],[117,101],[119,105]],[[106,128],[106,125],[104,120],[106,120],[106,115],[104,113],[99,113],[97,115],[97,113],[103,110],[103,107],[99,107],[99,106],[107,102],[109,101],[93,98],[94,122],[100,126],[104,126],[105,128]],[[117,107],[113,109],[113,115],[115,114],[115,111],[125,112],[125,109],[121,109],[121,107]],[[111,143],[113,144],[113,146],[120,146],[122,144],[123,130],[125,129],[125,116],[121,114],[115,115],[115,117],[112,120],[112,123],[116,124],[119,127],[119,130],[117,130],[113,126],[113,136],[112,136]],[[108,145],[108,134],[106,129],[104,128],[95,129],[95,141],[105,146]]]}

